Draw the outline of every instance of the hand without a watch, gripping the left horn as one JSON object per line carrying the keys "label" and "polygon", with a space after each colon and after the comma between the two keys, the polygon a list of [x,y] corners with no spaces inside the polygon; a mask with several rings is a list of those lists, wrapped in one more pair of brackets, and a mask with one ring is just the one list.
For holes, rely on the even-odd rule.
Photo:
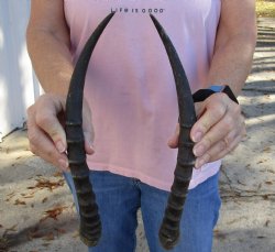
{"label": "hand without a watch, gripping the left horn", "polygon": [[[64,96],[53,94],[41,96],[28,109],[28,138],[30,149],[35,155],[41,156],[63,172],[68,172],[67,143],[64,130],[65,105],[66,98]],[[90,109],[85,100],[82,129],[86,153],[92,154],[94,129]]]}

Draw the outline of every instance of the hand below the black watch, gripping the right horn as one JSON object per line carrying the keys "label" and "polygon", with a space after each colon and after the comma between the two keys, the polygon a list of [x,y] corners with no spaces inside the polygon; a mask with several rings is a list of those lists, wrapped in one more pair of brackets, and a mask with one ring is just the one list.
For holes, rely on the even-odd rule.
{"label": "hand below the black watch, gripping the right horn", "polygon": [[[246,131],[240,105],[223,92],[213,94],[195,106],[198,121],[191,128],[190,138],[195,142],[195,167],[199,168],[233,151]],[[179,125],[168,141],[170,147],[177,147],[178,133]]]}

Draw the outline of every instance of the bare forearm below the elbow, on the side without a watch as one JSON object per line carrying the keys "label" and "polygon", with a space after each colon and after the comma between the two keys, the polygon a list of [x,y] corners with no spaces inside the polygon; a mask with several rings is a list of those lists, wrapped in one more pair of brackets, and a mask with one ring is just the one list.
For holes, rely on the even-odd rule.
{"label": "bare forearm below the elbow, on the side without a watch", "polygon": [[50,31],[30,29],[28,50],[33,68],[45,92],[66,95],[73,73],[68,44]]}

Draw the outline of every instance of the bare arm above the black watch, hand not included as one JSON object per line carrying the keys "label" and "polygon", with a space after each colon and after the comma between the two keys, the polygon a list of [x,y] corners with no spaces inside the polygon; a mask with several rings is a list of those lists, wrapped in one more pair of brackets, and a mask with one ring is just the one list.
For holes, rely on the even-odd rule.
{"label": "bare arm above the black watch, hand not included", "polygon": [[208,84],[229,85],[239,95],[250,73],[255,48],[255,1],[221,2],[221,19]]}

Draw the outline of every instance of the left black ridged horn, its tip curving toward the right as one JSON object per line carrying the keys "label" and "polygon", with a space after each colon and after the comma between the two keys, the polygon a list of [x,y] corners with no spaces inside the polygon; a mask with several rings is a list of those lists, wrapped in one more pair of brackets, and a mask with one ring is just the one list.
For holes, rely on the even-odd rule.
{"label": "left black ridged horn, its tip curving toward the right", "polygon": [[82,97],[86,72],[91,53],[113,17],[110,13],[94,31],[76,63],[66,101],[66,138],[68,145],[69,168],[74,179],[79,205],[81,241],[88,246],[95,246],[101,235],[101,221],[98,213],[96,197],[89,182],[89,168],[86,163],[86,152],[82,132]]}

